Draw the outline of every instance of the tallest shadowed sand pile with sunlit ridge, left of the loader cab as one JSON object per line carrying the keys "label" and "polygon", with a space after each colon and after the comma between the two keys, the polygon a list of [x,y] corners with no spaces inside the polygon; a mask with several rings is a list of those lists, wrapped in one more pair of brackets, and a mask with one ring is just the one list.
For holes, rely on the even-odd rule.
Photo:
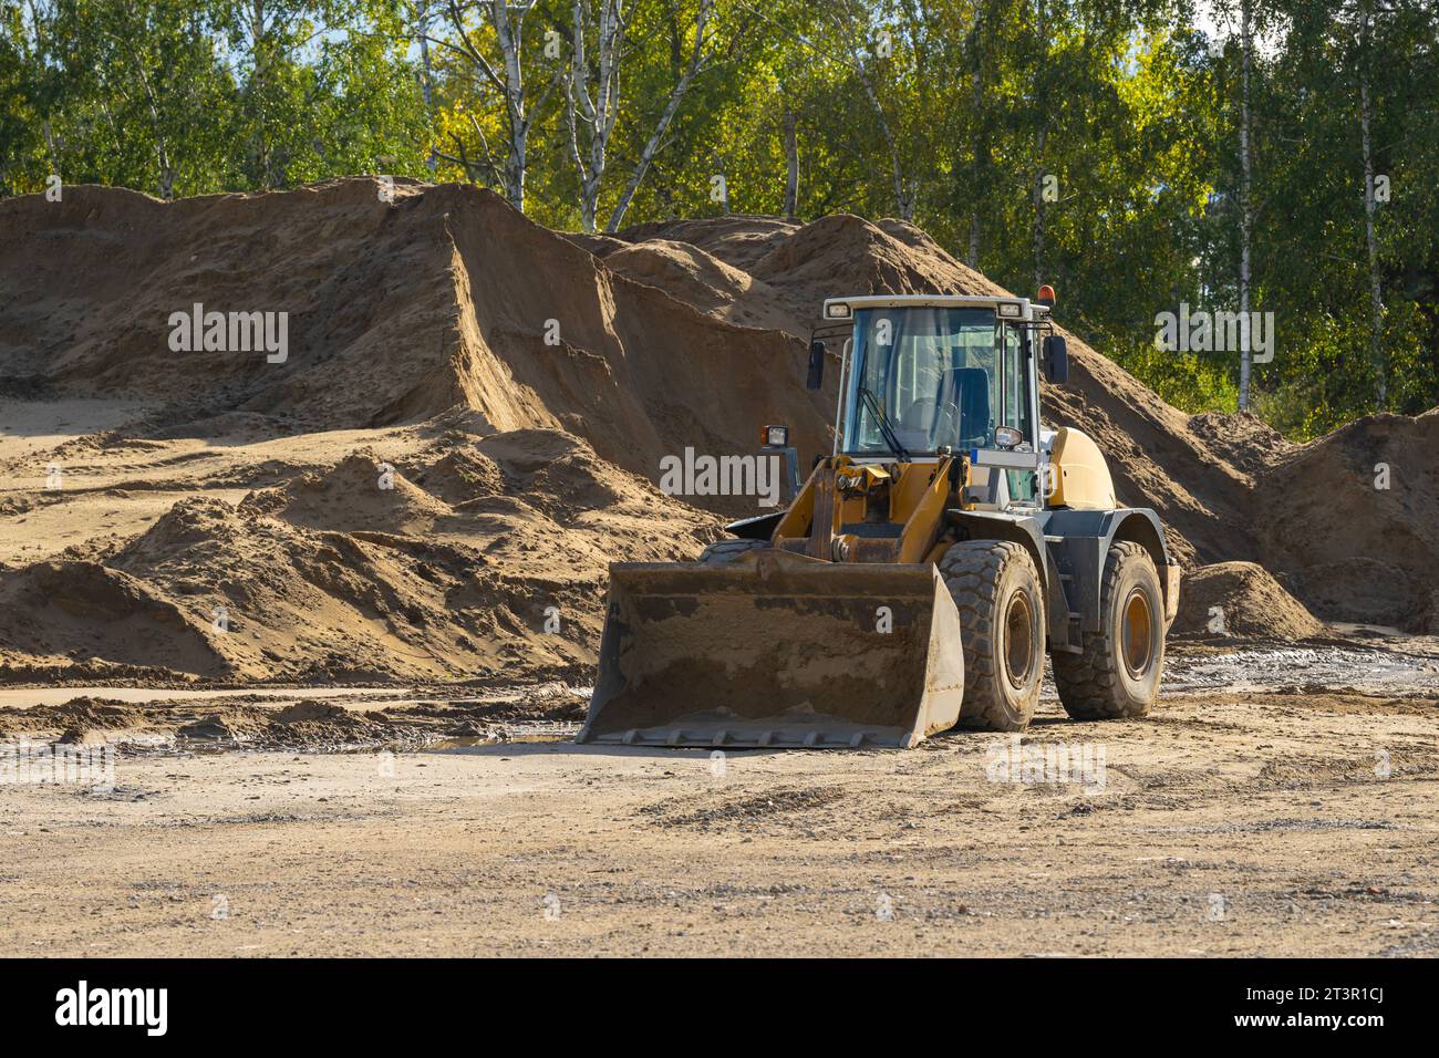
{"label": "tallest shadowed sand pile with sunlit ridge, left of the loader cab", "polygon": [[[486,433],[564,429],[646,476],[685,446],[814,451],[804,350],[600,266],[475,187],[373,180],[165,204],[68,187],[0,203],[0,390],[170,404],[157,436],[236,413],[354,429],[463,406]],[[285,314],[286,345],[174,351],[176,312]],[[193,328],[183,328],[189,333]],[[229,333],[229,331],[226,331]],[[193,335],[191,335],[193,337]],[[252,343],[253,344],[253,343]],[[720,505],[722,507],[722,504]]]}

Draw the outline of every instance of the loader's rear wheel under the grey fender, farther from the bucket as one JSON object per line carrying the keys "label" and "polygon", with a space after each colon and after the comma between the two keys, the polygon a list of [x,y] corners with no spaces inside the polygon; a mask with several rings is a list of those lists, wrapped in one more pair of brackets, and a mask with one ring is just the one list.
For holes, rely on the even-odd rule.
{"label": "loader's rear wheel under the grey fender, farther from the bucket", "polygon": [[1075,720],[1143,717],[1164,672],[1164,593],[1143,546],[1111,544],[1099,589],[1099,630],[1081,654],[1055,651],[1055,687]]}

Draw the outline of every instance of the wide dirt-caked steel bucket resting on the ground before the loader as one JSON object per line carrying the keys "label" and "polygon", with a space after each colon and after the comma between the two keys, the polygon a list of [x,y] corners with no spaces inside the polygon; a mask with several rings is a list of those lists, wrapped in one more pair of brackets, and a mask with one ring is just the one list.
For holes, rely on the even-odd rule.
{"label": "wide dirt-caked steel bucket resting on the ground before the loader", "polygon": [[932,566],[625,563],[578,741],[908,747],[953,727],[963,697],[960,619]]}

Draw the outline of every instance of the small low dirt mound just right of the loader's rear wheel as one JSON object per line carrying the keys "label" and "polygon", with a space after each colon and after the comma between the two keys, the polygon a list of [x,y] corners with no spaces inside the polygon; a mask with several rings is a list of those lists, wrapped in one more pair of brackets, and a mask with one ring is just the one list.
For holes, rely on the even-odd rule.
{"label": "small low dirt mound just right of the loader's rear wheel", "polygon": [[1173,635],[1308,639],[1324,625],[1268,570],[1249,561],[1202,566],[1184,577]]}

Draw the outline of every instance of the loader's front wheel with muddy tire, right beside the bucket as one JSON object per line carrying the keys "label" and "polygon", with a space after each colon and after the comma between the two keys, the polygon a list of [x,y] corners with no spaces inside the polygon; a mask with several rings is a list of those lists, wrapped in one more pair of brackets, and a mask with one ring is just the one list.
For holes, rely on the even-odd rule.
{"label": "loader's front wheel with muddy tire, right beside the bucket", "polygon": [[1023,544],[966,540],[940,559],[964,636],[958,727],[1023,731],[1045,675],[1045,605]]}

